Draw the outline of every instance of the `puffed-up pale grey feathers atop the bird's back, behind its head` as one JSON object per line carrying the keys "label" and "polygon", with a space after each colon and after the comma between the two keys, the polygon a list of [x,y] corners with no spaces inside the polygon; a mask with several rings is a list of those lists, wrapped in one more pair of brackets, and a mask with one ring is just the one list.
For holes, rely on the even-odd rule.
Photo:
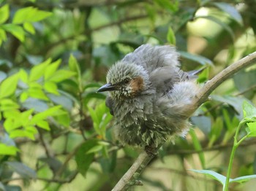
{"label": "puffed-up pale grey feathers atop the bird's back, behind its head", "polygon": [[122,61],[143,66],[148,73],[165,66],[170,66],[171,68],[179,66],[178,53],[175,47],[168,45],[152,46],[143,44],[134,52],[126,55]]}

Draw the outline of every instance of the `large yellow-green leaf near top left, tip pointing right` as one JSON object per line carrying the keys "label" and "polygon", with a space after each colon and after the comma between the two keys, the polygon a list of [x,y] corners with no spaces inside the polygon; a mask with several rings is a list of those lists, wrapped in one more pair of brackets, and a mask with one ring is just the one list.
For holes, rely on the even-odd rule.
{"label": "large yellow-green leaf near top left, tip pointing right", "polygon": [[20,24],[26,22],[37,22],[49,17],[50,15],[52,15],[51,12],[41,11],[34,7],[25,7],[18,9],[18,11],[15,12],[12,23]]}

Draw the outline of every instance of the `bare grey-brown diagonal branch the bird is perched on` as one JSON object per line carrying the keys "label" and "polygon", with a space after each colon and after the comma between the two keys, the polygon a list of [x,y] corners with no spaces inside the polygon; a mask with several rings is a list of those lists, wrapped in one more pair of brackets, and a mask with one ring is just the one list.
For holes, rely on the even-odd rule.
{"label": "bare grey-brown diagonal branch the bird is perched on", "polygon": [[[195,99],[193,100],[192,108],[194,109],[193,112],[205,101],[208,99],[208,95],[210,95],[216,87],[222,84],[226,79],[230,78],[233,74],[235,74],[237,71],[241,69],[245,69],[248,66],[251,66],[253,63],[256,62],[256,52],[253,52],[249,55],[247,55],[244,58],[241,58],[241,60],[236,61],[232,65],[228,66],[226,69],[221,71],[219,74],[217,74],[215,77],[213,77],[211,80],[206,82],[206,84],[200,89],[200,91],[195,96]],[[191,108],[189,108],[191,109]],[[137,160],[135,160],[135,163],[129,168],[129,170],[124,174],[124,176],[119,180],[119,182],[116,184],[116,186],[113,188],[113,191],[118,190],[124,190],[124,188],[127,186],[127,183],[131,182],[132,179],[136,179],[134,177],[135,175],[138,177],[143,169],[146,168],[148,163],[151,161],[153,157],[147,155],[147,153],[144,151],[140,153]],[[132,184],[129,184],[128,186],[131,186]]]}

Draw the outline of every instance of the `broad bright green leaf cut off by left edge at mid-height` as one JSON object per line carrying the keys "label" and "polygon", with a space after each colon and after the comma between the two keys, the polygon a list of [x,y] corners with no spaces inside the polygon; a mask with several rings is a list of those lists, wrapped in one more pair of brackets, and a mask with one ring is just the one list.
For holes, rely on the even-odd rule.
{"label": "broad bright green leaf cut off by left edge at mid-height", "polygon": [[19,74],[13,74],[10,77],[4,79],[0,84],[0,99],[15,93],[19,79]]}

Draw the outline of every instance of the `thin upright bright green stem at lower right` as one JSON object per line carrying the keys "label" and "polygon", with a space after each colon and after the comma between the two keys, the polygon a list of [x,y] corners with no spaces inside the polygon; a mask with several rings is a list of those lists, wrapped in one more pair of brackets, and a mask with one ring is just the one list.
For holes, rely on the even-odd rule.
{"label": "thin upright bright green stem at lower right", "polygon": [[246,139],[247,136],[244,136],[240,141],[238,141],[238,133],[239,133],[239,130],[241,129],[241,127],[246,123],[247,121],[245,120],[242,120],[239,125],[238,125],[238,128],[236,129],[236,134],[234,136],[234,144],[233,144],[233,148],[232,148],[232,151],[231,151],[231,154],[230,154],[230,161],[228,163],[228,168],[227,168],[227,177],[226,177],[226,182],[225,182],[225,187],[224,187],[224,191],[228,191],[228,186],[230,184],[230,174],[231,174],[231,171],[232,171],[232,167],[233,167],[233,160],[234,160],[234,157],[235,157],[235,152],[236,152],[236,149],[238,148],[239,144],[241,144],[242,141],[244,141],[244,139]]}

